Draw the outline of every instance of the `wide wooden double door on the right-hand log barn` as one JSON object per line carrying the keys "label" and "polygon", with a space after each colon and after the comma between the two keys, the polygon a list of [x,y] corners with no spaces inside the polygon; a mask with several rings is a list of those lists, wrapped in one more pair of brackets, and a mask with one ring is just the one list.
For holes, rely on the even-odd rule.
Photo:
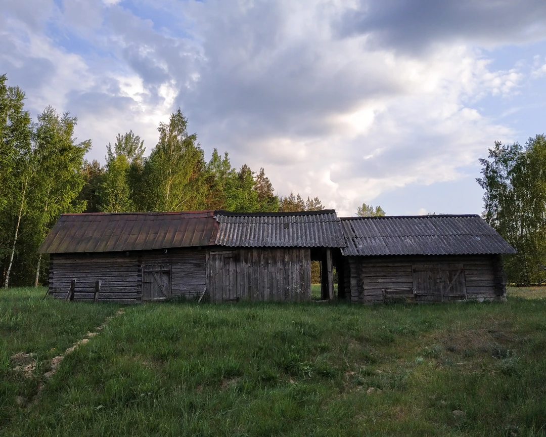
{"label": "wide wooden double door on the right-hand log barn", "polygon": [[413,291],[417,300],[460,300],[466,298],[462,264],[412,266]]}

